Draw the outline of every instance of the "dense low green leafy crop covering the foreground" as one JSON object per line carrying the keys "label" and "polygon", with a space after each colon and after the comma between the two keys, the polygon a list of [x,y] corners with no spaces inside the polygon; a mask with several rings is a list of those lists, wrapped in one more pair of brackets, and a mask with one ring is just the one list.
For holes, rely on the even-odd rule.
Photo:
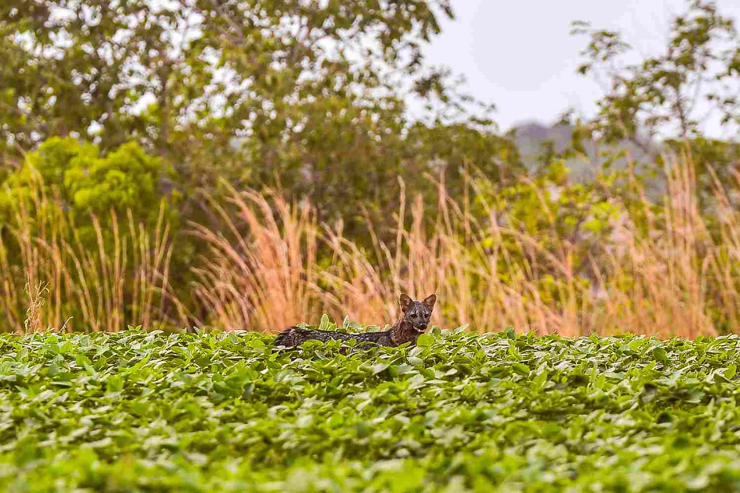
{"label": "dense low green leafy crop covering the foreground", "polygon": [[[359,327],[349,324],[349,330]],[[740,487],[736,335],[0,337],[0,489],[682,491]]]}

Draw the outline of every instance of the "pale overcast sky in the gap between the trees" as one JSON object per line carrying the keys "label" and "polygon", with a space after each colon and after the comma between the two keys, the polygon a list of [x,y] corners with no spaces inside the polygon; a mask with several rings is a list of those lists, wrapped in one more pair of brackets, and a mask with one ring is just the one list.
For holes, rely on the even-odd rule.
{"label": "pale overcast sky in the gap between the trees", "polygon": [[[740,0],[719,0],[720,13],[740,23]],[[571,36],[571,21],[619,30],[633,47],[654,53],[665,46],[670,18],[686,0],[454,0],[454,21],[425,54],[465,75],[465,88],[495,103],[502,130],[525,121],[552,123],[572,106],[593,115],[602,94],[590,78],[576,75],[586,36]],[[740,27],[740,26],[738,26]],[[740,84],[740,81],[739,81]],[[719,127],[706,131],[719,136]],[[723,132],[724,133],[724,132]]]}

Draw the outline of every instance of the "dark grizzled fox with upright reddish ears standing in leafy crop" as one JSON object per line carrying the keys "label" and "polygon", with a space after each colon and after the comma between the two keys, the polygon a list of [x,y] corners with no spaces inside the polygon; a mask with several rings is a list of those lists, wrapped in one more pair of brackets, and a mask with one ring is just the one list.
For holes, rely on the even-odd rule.
{"label": "dark grizzled fox with upright reddish ears standing in leafy crop", "polygon": [[434,302],[437,301],[437,295],[427,296],[423,302],[411,299],[407,294],[400,296],[401,317],[393,327],[383,332],[366,332],[360,334],[348,334],[336,332],[334,330],[312,330],[302,329],[300,327],[288,327],[279,334],[275,339],[276,346],[297,347],[305,341],[329,341],[340,339],[349,341],[356,339],[357,343],[370,342],[380,346],[396,347],[405,342],[411,342],[416,345],[419,336],[424,333],[429,324],[431,310],[434,309]]}

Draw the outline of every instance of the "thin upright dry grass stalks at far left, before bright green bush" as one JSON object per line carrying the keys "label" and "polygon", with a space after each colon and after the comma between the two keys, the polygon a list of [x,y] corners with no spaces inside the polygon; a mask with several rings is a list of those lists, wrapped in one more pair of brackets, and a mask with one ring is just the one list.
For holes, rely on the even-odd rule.
{"label": "thin upright dry grass stalks at far left, before bright green bush", "polygon": [[30,197],[19,200],[0,234],[4,330],[115,331],[128,324],[172,323],[164,317],[172,258],[164,208],[153,231],[129,214],[128,234],[114,211],[105,222],[93,216],[90,248],[75,237],[74,218],[61,213],[61,200],[44,190],[38,183]]}

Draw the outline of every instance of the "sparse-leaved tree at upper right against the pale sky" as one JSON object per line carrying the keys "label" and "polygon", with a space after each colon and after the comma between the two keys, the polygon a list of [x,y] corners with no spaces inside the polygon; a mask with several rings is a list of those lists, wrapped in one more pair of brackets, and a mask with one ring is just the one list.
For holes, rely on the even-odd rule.
{"label": "sparse-leaved tree at upper right against the pale sky", "polygon": [[596,118],[579,128],[578,138],[628,140],[658,164],[666,149],[689,149],[703,200],[713,181],[707,166],[722,181],[733,177],[740,166],[738,141],[705,133],[712,121],[730,135],[740,129],[740,35],[716,2],[691,1],[686,13],[672,19],[665,49],[639,63],[623,61],[633,48],[620,33],[592,30],[583,22],[575,23],[573,33],[590,37],[579,72],[608,81]]}

